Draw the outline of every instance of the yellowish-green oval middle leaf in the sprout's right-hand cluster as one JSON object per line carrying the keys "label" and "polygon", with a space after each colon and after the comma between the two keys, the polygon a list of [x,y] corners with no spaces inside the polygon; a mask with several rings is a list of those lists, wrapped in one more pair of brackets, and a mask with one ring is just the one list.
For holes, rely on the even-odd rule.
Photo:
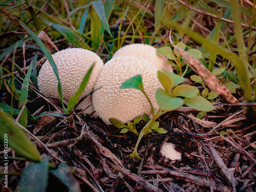
{"label": "yellowish-green oval middle leaf in the sprout's right-hand cluster", "polygon": [[176,86],[172,92],[173,97],[194,97],[199,93],[195,86],[188,86],[187,84],[180,84]]}

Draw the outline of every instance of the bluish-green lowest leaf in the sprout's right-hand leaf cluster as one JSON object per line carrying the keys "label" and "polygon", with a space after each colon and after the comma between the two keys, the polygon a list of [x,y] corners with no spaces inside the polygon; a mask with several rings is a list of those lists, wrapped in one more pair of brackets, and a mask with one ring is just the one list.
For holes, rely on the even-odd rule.
{"label": "bluish-green lowest leaf in the sprout's right-hand leaf cluster", "polygon": [[169,97],[162,89],[157,89],[156,99],[162,110],[173,111],[183,105],[183,99],[179,97]]}

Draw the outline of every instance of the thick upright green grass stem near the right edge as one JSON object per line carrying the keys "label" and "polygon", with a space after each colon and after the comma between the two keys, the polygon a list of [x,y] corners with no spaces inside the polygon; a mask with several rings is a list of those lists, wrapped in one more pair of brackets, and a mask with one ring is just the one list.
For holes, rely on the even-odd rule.
{"label": "thick upright green grass stem near the right edge", "polygon": [[[230,0],[229,5],[230,5],[231,11],[232,11],[232,19],[233,19],[233,22],[234,22],[234,32],[235,32],[235,36],[236,36],[236,39],[237,39],[239,57],[242,61],[242,62],[238,63],[238,65],[243,66],[243,68],[244,68],[244,71],[241,71],[241,72],[237,71],[238,77],[242,81],[246,81],[246,82],[249,83],[250,82],[249,70],[248,70],[248,66],[247,66],[246,50],[245,50],[243,32],[242,32],[242,27],[241,27],[239,5],[238,5],[238,2],[236,0]],[[250,86],[248,85],[247,87],[244,87],[243,91],[244,91],[245,99],[247,101],[251,101],[252,100],[252,95],[251,95]]]}

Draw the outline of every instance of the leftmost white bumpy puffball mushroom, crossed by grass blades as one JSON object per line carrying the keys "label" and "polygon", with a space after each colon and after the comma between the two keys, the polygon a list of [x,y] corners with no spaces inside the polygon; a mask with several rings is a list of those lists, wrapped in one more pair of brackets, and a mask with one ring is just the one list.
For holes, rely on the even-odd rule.
{"label": "leftmost white bumpy puffball mushroom, crossed by grass blades", "polygon": [[[52,55],[52,58],[55,61],[58,69],[63,99],[69,101],[69,99],[79,88],[83,77],[94,64],[87,86],[84,92],[80,95],[79,99],[86,96],[93,90],[94,84],[103,67],[103,61],[98,55],[89,50],[71,48],[56,52]],[[39,91],[42,94],[59,98],[58,81],[48,60],[42,65],[39,71],[37,84]],[[77,109],[85,109],[91,105],[91,102],[91,96],[88,96],[82,103],[78,105]],[[85,113],[92,112],[92,106],[85,111]]]}

